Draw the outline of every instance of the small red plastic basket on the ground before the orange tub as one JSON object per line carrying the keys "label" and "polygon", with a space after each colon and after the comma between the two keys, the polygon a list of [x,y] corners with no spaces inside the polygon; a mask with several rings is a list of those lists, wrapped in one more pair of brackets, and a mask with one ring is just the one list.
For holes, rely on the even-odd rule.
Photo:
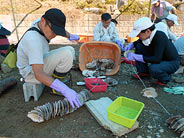
{"label": "small red plastic basket on the ground before the orange tub", "polygon": [[99,78],[85,78],[86,87],[92,92],[105,92],[108,84]]}

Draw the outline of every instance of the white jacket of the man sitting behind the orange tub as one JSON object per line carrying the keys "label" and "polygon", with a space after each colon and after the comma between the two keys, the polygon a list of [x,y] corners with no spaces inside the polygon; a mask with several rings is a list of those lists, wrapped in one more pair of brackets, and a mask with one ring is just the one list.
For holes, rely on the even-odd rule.
{"label": "white jacket of the man sitting behind the orange tub", "polygon": [[123,44],[125,43],[125,40],[119,37],[116,26],[113,22],[109,24],[109,27],[107,29],[103,27],[102,22],[99,22],[94,28],[93,40],[112,43],[116,43],[117,40],[120,40]]}

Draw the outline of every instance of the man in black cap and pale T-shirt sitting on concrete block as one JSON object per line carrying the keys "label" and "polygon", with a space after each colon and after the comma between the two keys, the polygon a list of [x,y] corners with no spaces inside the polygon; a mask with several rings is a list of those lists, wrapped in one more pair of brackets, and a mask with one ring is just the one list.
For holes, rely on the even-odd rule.
{"label": "man in black cap and pale T-shirt sitting on concrete block", "polygon": [[52,74],[63,75],[72,68],[75,57],[74,48],[66,46],[49,51],[49,41],[57,35],[69,40],[79,40],[79,36],[65,30],[66,17],[56,8],[45,12],[41,19],[33,22],[31,27],[38,31],[27,31],[17,48],[17,67],[27,83],[43,83],[65,96],[73,108],[80,107],[77,93]]}

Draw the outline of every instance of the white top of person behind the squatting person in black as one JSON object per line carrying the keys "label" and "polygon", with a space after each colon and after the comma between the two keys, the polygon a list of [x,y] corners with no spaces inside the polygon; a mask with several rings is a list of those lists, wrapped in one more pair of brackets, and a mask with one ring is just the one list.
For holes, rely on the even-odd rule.
{"label": "white top of person behind the squatting person in black", "polygon": [[178,39],[178,37],[173,32],[171,32],[165,19],[163,19],[161,22],[155,24],[155,27],[157,30],[164,32],[169,39],[171,39],[173,41],[176,41]]}

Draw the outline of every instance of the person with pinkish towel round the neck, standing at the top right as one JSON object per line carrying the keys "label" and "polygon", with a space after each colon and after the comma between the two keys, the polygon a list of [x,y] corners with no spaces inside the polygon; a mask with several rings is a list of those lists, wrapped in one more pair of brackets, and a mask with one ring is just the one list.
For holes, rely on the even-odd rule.
{"label": "person with pinkish towel round the neck, standing at the top right", "polygon": [[155,23],[160,22],[162,19],[165,19],[170,12],[175,14],[175,7],[172,6],[167,1],[161,0],[152,0],[152,12],[151,12],[151,20]]}

